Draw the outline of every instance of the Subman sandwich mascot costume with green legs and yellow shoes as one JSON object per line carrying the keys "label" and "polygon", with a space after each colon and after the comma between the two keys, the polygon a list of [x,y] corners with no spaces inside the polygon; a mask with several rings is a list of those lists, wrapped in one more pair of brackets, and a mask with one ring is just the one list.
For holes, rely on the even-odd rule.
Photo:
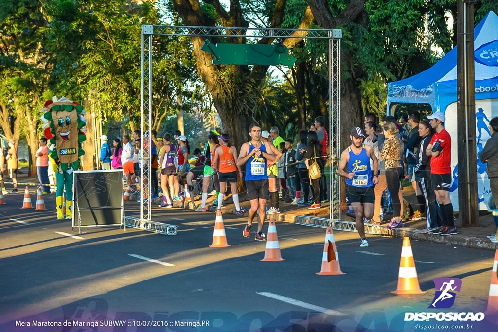
{"label": "Subman sandwich mascot costume with green legs and yellow shoes", "polygon": [[[86,111],[77,103],[54,97],[45,103],[42,115],[45,137],[50,139],[49,155],[57,164],[57,219],[73,219],[73,171],[80,168],[80,156],[85,154],[81,143],[86,140],[83,128]],[[62,194],[66,190],[66,216]]]}

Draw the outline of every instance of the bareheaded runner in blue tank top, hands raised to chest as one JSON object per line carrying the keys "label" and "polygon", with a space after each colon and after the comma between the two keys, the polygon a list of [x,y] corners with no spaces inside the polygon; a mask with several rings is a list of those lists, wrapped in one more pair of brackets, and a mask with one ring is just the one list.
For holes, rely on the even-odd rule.
{"label": "bareheaded runner in blue tank top, hands raised to chest", "polygon": [[269,143],[261,142],[261,127],[259,125],[251,124],[249,126],[249,136],[251,140],[242,144],[237,162],[241,168],[246,164],[246,187],[250,200],[249,219],[242,235],[249,237],[252,220],[259,209],[257,233],[254,240],[265,241],[266,235],[262,233],[265,216],[264,205],[269,195],[266,162],[273,162],[275,156],[271,153]]}

